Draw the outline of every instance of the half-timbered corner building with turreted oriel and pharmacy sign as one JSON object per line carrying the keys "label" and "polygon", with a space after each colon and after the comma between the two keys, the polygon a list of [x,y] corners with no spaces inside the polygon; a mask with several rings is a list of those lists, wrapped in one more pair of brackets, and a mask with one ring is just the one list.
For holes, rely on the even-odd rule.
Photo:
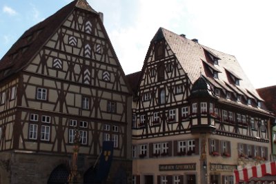
{"label": "half-timbered corner building with turreted oriel and pharmacy sign", "polygon": [[132,85],[132,182],[233,183],[270,159],[270,121],[237,59],[159,28]]}

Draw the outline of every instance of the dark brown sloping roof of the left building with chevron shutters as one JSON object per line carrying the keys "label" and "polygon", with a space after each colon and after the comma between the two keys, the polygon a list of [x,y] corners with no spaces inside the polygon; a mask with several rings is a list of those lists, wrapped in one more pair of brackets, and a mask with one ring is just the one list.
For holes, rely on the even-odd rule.
{"label": "dark brown sloping roof of the left building with chevron shutters", "polygon": [[5,76],[1,75],[0,80],[21,70],[43,47],[52,34],[57,31],[59,25],[66,20],[75,8],[97,13],[89,6],[86,0],[75,0],[44,21],[26,30],[1,59],[0,72],[2,70],[8,70],[8,72]]}

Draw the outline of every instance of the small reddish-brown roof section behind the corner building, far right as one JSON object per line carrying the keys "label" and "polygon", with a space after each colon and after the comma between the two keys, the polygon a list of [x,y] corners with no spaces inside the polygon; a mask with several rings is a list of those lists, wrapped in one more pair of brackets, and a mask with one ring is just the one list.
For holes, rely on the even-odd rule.
{"label": "small reddish-brown roof section behind the corner building, far right", "polygon": [[264,99],[266,108],[276,114],[276,85],[257,89],[259,96]]}

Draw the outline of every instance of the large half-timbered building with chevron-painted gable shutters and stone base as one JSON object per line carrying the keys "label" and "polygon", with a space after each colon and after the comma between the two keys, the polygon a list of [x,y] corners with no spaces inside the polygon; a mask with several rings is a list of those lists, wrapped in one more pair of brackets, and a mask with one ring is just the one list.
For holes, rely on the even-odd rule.
{"label": "large half-timbered building with chevron-painted gable shutters and stone base", "polygon": [[89,183],[103,141],[114,143],[107,183],[131,177],[130,87],[103,14],[85,0],[12,45],[0,61],[0,96],[0,183],[66,183],[74,152],[77,178]]}

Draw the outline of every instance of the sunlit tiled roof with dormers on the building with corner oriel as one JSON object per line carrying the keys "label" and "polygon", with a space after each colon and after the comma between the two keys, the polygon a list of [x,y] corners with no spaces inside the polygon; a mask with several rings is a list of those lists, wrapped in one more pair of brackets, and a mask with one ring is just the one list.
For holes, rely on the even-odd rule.
{"label": "sunlit tiled roof with dormers on the building with corner oriel", "polygon": [[[181,63],[182,68],[188,74],[192,83],[195,83],[195,81],[199,79],[200,73],[202,72],[202,74],[206,76],[206,79],[215,86],[219,85],[221,88],[224,88],[224,90],[229,90],[228,86],[230,86],[233,90],[242,92],[242,94],[248,98],[255,96],[257,99],[262,100],[233,55],[213,50],[212,48],[201,45],[196,41],[186,39],[186,37],[181,37],[164,28],[159,28],[152,41],[157,39],[156,35],[160,38],[161,34],[164,36],[164,39],[166,39],[172,52],[175,53],[179,63]],[[219,59],[219,65],[213,65],[213,61],[208,54]],[[202,70],[202,68],[204,68],[204,63],[213,65],[213,70],[216,69],[216,71],[220,71],[219,79],[214,79],[213,75],[211,75],[208,70]],[[226,70],[232,72],[232,74],[235,74],[235,76],[241,79],[239,86],[231,83],[228,79]]]}

